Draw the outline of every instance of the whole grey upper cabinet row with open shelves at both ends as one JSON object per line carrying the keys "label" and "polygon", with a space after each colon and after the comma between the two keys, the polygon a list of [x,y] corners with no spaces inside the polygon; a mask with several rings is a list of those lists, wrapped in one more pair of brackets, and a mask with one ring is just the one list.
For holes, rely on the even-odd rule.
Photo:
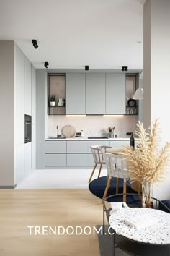
{"label": "whole grey upper cabinet row with open shelves at both ends", "polygon": [[128,101],[135,93],[136,74],[71,72],[48,77],[48,114],[138,114],[138,102],[132,107]]}

